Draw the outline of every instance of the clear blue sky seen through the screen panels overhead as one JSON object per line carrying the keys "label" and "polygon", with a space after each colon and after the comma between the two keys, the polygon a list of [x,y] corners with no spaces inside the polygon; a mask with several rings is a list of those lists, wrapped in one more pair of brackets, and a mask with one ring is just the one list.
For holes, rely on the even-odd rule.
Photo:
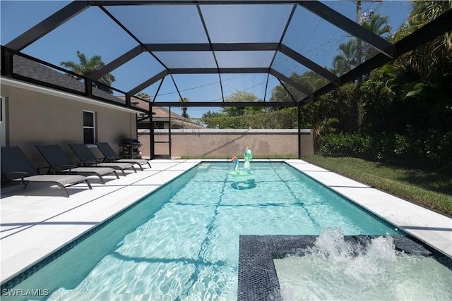
{"label": "clear blue sky seen through the screen panels overhead", "polygon": [[[69,1],[0,1],[1,9],[1,44],[30,29],[50,14],[63,8]],[[354,1],[323,1],[323,4],[355,20],[356,4]],[[208,26],[212,42],[278,42],[280,32],[292,6],[201,6],[203,17]],[[137,11],[133,6],[111,6],[107,10],[130,28],[143,43],[165,42],[207,42],[202,23],[195,6],[141,6]],[[362,13],[373,10],[382,16],[388,16],[393,31],[402,25],[408,17],[408,1],[362,1]],[[283,25],[281,25],[283,24]],[[308,30],[305,30],[308,29]],[[287,30],[284,44],[299,51],[308,59],[321,66],[331,66],[333,56],[340,43],[350,37],[321,20],[308,11],[297,8],[292,23]],[[126,51],[136,47],[137,43],[97,7],[90,7],[78,16],[64,23],[56,30],[45,35],[37,42],[23,49],[25,54],[60,66],[62,61],[78,61],[76,51],[88,57],[100,55],[102,61],[109,63]],[[186,68],[215,66],[213,56],[206,52],[189,52],[184,56],[173,53],[155,54],[169,68],[184,66]],[[221,66],[265,66],[273,53],[250,52],[247,56],[235,51],[218,53],[217,60]],[[303,73],[307,69],[287,59],[283,55],[275,58],[273,68],[290,76],[292,72]],[[165,68],[150,54],[143,53],[129,63],[124,64],[112,74],[116,81],[113,86],[128,91],[137,83],[144,82]],[[254,93],[258,98],[268,99],[270,92],[279,82],[273,76],[268,80],[266,74],[225,74],[222,76],[222,89],[225,97],[236,90]],[[162,83],[156,102],[174,102],[179,94],[174,81],[182,94],[191,102],[218,102],[221,99],[218,75],[173,75],[167,76]],[[154,96],[158,84],[143,90]],[[191,117],[201,117],[207,110],[218,108],[190,107],[187,111]],[[172,109],[181,113],[180,109]]]}

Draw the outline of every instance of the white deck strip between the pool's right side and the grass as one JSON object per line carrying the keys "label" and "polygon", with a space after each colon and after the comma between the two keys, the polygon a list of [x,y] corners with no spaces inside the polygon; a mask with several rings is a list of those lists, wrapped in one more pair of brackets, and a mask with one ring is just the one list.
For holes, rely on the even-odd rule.
{"label": "white deck strip between the pool's right side and the grass", "polygon": [[452,219],[325,168],[302,160],[285,160],[307,176],[347,197],[379,218],[452,258]]}

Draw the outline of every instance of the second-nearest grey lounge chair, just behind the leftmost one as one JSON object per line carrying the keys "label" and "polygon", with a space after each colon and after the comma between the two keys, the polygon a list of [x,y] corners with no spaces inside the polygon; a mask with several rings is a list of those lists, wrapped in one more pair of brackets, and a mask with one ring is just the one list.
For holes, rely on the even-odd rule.
{"label": "second-nearest grey lounge chair, just behind the leftmost one", "polygon": [[45,161],[47,161],[50,165],[47,173],[75,173],[82,176],[97,176],[100,178],[102,184],[105,184],[105,180],[102,176],[114,174],[114,176],[119,178],[113,168],[77,167],[73,165],[71,159],[69,159],[69,156],[66,155],[59,145],[36,145],[36,148],[40,151],[42,156],[44,156]]}

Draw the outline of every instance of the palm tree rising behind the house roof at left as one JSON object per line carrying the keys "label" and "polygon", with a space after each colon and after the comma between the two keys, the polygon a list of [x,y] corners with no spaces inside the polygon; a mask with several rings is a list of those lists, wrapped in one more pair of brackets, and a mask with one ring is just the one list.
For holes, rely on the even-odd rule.
{"label": "palm tree rising behind the house roof at left", "polygon": [[[95,71],[100,70],[105,66],[105,63],[102,61],[100,56],[93,56],[91,59],[88,59],[85,54],[82,54],[80,51],[77,51],[77,57],[78,57],[78,63],[73,61],[64,61],[61,62],[61,66],[64,66],[66,68],[69,68],[74,73],[77,73],[79,75],[83,75],[87,77],[88,75],[91,75],[95,73]],[[68,74],[71,78],[75,78],[76,80],[81,80],[82,78]],[[96,87],[99,90],[105,91],[109,94],[113,94],[113,91],[109,88],[112,85],[112,82],[114,82],[115,78],[112,74],[108,73],[97,82],[100,82],[98,84],[97,82],[93,83],[93,87]]]}

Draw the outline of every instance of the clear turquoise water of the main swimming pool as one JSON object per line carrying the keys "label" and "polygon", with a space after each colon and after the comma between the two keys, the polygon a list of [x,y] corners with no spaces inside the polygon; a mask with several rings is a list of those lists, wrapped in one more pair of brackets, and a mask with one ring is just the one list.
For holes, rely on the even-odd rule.
{"label": "clear turquoise water of the main swimming pool", "polygon": [[145,197],[16,288],[49,300],[236,300],[239,235],[401,235],[283,163],[205,162]]}

